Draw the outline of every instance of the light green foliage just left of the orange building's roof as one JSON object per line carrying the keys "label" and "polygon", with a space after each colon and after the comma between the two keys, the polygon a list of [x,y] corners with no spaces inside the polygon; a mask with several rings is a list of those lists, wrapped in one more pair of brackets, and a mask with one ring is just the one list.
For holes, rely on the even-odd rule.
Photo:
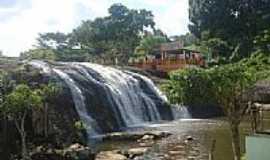
{"label": "light green foliage just left of the orange building's roof", "polygon": [[155,54],[154,51],[158,48],[158,45],[165,42],[167,42],[167,39],[166,37],[163,36],[155,36],[155,35],[146,36],[141,40],[140,45],[136,47],[135,54],[153,55]]}

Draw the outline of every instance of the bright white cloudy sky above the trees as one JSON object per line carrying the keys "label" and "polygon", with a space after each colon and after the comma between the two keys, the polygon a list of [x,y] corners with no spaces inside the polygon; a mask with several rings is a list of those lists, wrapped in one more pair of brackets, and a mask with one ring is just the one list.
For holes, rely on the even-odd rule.
{"label": "bright white cloudy sky above the trees", "polygon": [[188,0],[0,0],[0,50],[19,56],[33,48],[38,33],[69,33],[82,20],[107,16],[114,3],[152,11],[156,27],[169,36],[188,32]]}

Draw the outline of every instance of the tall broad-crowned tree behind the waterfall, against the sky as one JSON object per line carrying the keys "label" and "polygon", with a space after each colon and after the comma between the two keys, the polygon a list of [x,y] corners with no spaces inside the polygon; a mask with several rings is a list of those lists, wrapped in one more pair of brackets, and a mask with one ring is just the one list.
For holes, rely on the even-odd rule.
{"label": "tall broad-crowned tree behind the waterfall, against the sky", "polygon": [[140,41],[140,33],[154,27],[153,14],[122,4],[114,4],[108,11],[107,17],[83,22],[72,37],[80,47],[93,48],[96,54],[114,52],[126,62]]}

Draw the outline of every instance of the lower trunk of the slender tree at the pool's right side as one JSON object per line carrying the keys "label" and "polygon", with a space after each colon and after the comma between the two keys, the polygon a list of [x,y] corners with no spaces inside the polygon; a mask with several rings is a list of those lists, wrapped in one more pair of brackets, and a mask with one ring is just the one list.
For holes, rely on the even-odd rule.
{"label": "lower trunk of the slender tree at the pool's right side", "polygon": [[234,160],[241,159],[239,123],[231,122],[232,148]]}

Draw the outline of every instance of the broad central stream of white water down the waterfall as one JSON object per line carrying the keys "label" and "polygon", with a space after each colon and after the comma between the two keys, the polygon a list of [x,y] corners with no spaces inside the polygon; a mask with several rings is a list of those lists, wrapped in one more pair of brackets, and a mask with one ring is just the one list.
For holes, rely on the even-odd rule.
{"label": "broad central stream of white water down the waterfall", "polygon": [[124,117],[127,126],[144,122],[143,110],[141,109],[144,102],[147,103],[146,106],[151,112],[150,118],[160,120],[155,104],[142,91],[139,80],[131,74],[97,64],[83,63],[82,65],[96,71],[104,78],[104,85],[108,88],[107,92],[111,93],[112,98],[120,107],[121,115]]}

